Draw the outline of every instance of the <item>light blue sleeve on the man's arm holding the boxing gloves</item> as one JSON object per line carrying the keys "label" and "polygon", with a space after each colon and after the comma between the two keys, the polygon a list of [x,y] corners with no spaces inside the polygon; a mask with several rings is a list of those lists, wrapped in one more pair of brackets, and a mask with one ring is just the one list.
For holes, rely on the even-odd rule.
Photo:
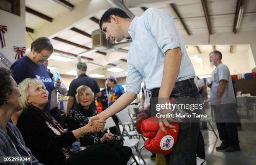
{"label": "light blue sleeve on the man's arm holding the boxing gloves", "polygon": [[156,38],[157,45],[161,52],[179,47],[181,41],[172,17],[163,10],[150,8],[146,10],[145,25]]}

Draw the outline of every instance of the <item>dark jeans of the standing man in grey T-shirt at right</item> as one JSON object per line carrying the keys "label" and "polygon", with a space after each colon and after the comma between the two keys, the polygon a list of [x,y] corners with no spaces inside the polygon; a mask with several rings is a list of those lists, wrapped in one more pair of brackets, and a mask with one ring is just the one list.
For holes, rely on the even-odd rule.
{"label": "dark jeans of the standing man in grey T-shirt at right", "polygon": [[223,145],[232,145],[239,147],[238,132],[236,123],[232,122],[236,120],[236,108],[234,104],[222,104],[220,107],[212,105],[212,109],[215,113],[216,122],[220,140]]}

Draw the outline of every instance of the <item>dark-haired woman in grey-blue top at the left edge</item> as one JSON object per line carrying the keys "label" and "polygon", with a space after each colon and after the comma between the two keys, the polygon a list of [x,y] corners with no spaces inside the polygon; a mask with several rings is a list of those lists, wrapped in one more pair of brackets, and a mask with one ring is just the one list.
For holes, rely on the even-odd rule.
{"label": "dark-haired woman in grey-blue top at the left edge", "polygon": [[29,164],[41,165],[25,146],[18,128],[8,122],[22,108],[20,91],[10,75],[10,70],[0,67],[0,156],[28,156]]}

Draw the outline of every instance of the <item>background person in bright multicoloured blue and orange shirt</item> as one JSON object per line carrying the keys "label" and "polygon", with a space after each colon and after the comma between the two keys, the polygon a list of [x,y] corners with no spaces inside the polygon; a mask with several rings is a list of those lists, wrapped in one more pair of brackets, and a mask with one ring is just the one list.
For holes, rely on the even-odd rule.
{"label": "background person in bright multicoloured blue and orange shirt", "polygon": [[[123,95],[124,89],[121,84],[117,83],[117,80],[114,76],[109,76],[107,78],[107,83],[108,83],[108,86],[111,87],[111,91],[108,99],[108,107],[110,107],[121,95]],[[118,118],[116,117],[116,115],[113,115],[112,118],[115,122],[115,125],[119,129]],[[118,134],[115,128],[110,128],[110,132],[115,135]]]}

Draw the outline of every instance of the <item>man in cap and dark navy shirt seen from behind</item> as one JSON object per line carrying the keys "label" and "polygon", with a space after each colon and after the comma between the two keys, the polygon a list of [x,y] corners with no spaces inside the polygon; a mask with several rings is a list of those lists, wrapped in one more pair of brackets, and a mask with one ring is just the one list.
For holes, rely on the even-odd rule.
{"label": "man in cap and dark navy shirt seen from behind", "polygon": [[[95,93],[95,97],[101,97],[100,87],[93,78],[88,77],[86,75],[87,65],[84,62],[77,63],[77,78],[74,79],[69,85],[68,91],[68,101],[67,101],[67,113],[71,110],[72,107],[77,106],[77,101],[74,99],[75,95],[77,94],[77,88],[81,85],[85,85],[92,89],[92,92]],[[92,102],[92,108],[97,109],[95,105],[95,101]]]}

